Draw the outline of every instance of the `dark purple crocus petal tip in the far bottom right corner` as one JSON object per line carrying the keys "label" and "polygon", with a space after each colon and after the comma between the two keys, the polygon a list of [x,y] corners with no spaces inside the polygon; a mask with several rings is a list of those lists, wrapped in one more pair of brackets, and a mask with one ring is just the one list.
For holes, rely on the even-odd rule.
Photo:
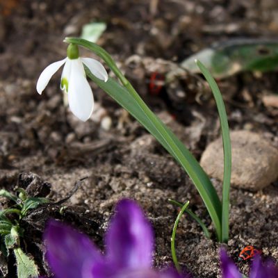
{"label": "dark purple crocus petal tip in the far bottom right corner", "polygon": [[267,261],[264,265],[260,256],[256,256],[252,263],[250,278],[278,278],[278,270],[272,261]]}

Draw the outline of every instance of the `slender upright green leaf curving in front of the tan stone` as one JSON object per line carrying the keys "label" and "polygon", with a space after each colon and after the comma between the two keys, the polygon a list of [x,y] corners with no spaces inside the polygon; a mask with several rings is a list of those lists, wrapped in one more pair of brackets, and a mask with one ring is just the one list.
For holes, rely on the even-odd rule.
{"label": "slender upright green leaf curving in front of the tan stone", "polygon": [[218,108],[218,115],[220,117],[224,152],[224,174],[222,189],[222,242],[227,242],[229,240],[229,192],[231,184],[231,139],[229,136],[229,124],[224,101],[217,83],[213,79],[213,76],[211,76],[211,73],[208,72],[206,67],[204,67],[204,65],[199,60],[197,60],[196,63],[211,87],[213,97],[215,98],[216,106]]}

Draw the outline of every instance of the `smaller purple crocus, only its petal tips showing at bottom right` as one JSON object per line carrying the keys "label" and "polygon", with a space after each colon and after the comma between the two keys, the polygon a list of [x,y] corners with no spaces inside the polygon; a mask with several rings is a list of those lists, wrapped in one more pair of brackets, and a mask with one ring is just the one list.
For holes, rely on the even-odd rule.
{"label": "smaller purple crocus, only its petal tips showing at bottom right", "polygon": [[[240,274],[238,268],[224,249],[220,251],[220,259],[223,278],[243,278],[243,275]],[[278,269],[272,261],[263,264],[261,256],[256,256],[252,263],[250,278],[278,278]]]}

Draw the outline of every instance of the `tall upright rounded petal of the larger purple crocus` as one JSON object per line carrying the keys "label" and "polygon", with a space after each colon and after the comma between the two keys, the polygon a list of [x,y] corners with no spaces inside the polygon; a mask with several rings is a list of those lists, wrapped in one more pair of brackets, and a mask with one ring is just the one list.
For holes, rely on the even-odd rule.
{"label": "tall upright rounded petal of the larger purple crocus", "polygon": [[140,206],[129,199],[120,201],[106,234],[107,259],[117,269],[152,266],[154,236]]}

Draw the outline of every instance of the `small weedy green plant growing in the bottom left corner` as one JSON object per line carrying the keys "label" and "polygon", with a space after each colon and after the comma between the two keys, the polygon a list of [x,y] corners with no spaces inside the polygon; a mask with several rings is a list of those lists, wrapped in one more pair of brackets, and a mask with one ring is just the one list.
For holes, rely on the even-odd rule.
{"label": "small weedy green plant growing in the bottom left corner", "polygon": [[1,189],[0,196],[14,203],[13,206],[0,211],[0,250],[8,257],[10,251],[15,254],[17,261],[17,277],[38,277],[38,267],[35,261],[22,250],[24,229],[20,227],[20,220],[30,209],[37,208],[40,204],[48,203],[49,200],[42,197],[27,197],[25,190],[19,188],[18,197]]}

